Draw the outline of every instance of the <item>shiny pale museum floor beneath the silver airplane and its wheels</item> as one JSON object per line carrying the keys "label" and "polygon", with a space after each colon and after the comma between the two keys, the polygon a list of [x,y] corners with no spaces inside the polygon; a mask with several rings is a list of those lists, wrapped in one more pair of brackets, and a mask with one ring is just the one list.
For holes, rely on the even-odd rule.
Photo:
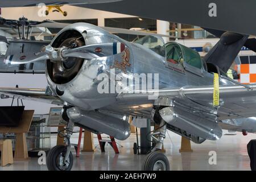
{"label": "shiny pale museum floor beneath the silver airplane and its wheels", "polygon": [[[227,133],[224,131],[224,134]],[[78,134],[73,134],[72,143],[77,142]],[[218,141],[205,141],[203,144],[192,144],[193,152],[180,154],[181,137],[170,131],[164,142],[167,158],[170,161],[170,168],[176,170],[250,170],[250,159],[247,155],[246,145],[256,134],[249,134],[243,137],[237,135],[223,135]],[[80,158],[74,155],[73,170],[113,170],[113,171],[139,171],[145,155],[133,154],[133,143],[136,142],[135,134],[125,141],[117,141],[120,154],[115,155],[112,148],[105,147],[106,152],[101,153],[96,135],[94,144],[96,152],[82,152]],[[56,143],[56,135],[51,138],[52,147]],[[123,147],[121,147],[121,145]],[[72,152],[75,150],[72,147]],[[216,151],[217,164],[209,164],[209,152]],[[45,165],[38,164],[38,158],[31,158],[28,161],[14,161],[13,165],[0,167],[1,170],[47,170]]]}

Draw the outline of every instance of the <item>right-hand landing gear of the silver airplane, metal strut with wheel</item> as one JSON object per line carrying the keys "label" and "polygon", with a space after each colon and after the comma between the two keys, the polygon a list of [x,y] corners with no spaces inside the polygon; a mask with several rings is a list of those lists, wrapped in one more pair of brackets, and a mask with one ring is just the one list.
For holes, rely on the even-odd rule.
{"label": "right-hand landing gear of the silver airplane, metal strut with wheel", "polygon": [[154,148],[144,159],[142,171],[169,171],[169,161],[163,153],[159,152],[163,147],[163,140],[166,138],[166,122],[161,119],[159,128],[151,135],[154,140]]}

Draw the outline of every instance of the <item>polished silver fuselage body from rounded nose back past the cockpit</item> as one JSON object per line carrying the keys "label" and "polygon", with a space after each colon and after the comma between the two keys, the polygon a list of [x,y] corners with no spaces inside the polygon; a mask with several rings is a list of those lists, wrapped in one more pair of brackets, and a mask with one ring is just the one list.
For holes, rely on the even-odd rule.
{"label": "polished silver fuselage body from rounded nose back past the cockpit", "polygon": [[[69,36],[69,37],[68,37]],[[144,74],[147,79],[148,75],[158,74],[159,77],[159,89],[163,88],[181,88],[183,86],[207,86],[213,85],[213,73],[207,71],[207,67],[201,61],[201,68],[189,67],[186,69],[181,64],[170,63],[166,59],[165,55],[159,55],[152,49],[142,46],[138,43],[130,43],[118,38],[115,35],[102,30],[97,26],[87,23],[75,23],[61,30],[59,34],[53,39],[51,46],[58,47],[63,39],[82,37],[82,42],[85,45],[101,43],[123,43],[126,45],[129,51],[129,64],[123,65],[123,54],[113,56],[102,56],[93,60],[84,60],[77,73],[72,78],[68,78],[67,81],[57,82],[54,80],[52,68],[49,60],[47,61],[46,75],[50,88],[53,92],[67,102],[68,105],[74,105],[80,107],[83,110],[95,110],[104,107],[113,108],[118,110],[119,107],[123,106],[119,104],[115,99],[119,93],[99,93],[98,85],[102,80],[98,80],[98,76],[105,73],[109,76],[109,86],[114,83],[116,87],[118,84],[118,78],[112,75],[112,69],[114,68],[115,75],[122,75],[126,77],[129,82],[129,88],[134,88],[134,77],[130,75]],[[159,39],[160,40],[160,39]],[[65,69],[65,68],[61,68]],[[61,70],[59,69],[59,71]],[[57,77],[60,78],[60,77]],[[145,80],[144,80],[145,82]],[[154,82],[154,76],[152,79]],[[137,83],[138,84],[138,83]],[[225,79],[220,78],[220,85],[233,85],[234,83]],[[143,85],[143,80],[139,82],[139,85]],[[154,85],[154,84],[153,84]],[[125,87],[125,86],[124,86]],[[154,86],[153,86],[154,88]],[[111,91],[112,88],[109,89]],[[154,100],[138,101],[130,106],[136,104],[152,104]],[[129,107],[129,103],[125,104],[126,109]],[[122,113],[122,110],[119,109]]]}

